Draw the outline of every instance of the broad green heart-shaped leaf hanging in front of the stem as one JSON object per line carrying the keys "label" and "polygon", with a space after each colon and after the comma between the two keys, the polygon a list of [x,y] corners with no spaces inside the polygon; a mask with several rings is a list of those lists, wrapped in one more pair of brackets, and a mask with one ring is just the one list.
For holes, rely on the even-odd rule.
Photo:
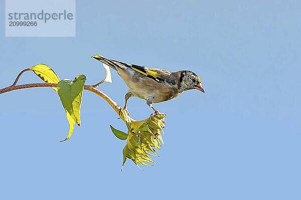
{"label": "broad green heart-shaped leaf hanging in front of the stem", "polygon": [[70,114],[78,125],[80,125],[80,106],[85,81],[86,76],[81,74],[77,75],[74,80],[63,79],[59,81],[57,86],[60,99],[66,112]]}

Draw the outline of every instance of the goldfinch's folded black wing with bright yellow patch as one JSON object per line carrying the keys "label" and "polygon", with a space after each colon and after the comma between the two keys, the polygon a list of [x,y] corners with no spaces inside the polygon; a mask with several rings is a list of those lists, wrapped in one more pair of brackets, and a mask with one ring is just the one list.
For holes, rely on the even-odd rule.
{"label": "goldfinch's folded black wing with bright yellow patch", "polygon": [[158,69],[158,68],[149,68],[146,66],[140,66],[136,64],[128,64],[125,62],[121,62],[118,60],[112,60],[118,64],[121,64],[123,66],[126,66],[128,68],[131,68],[149,78],[152,78],[158,82],[165,83],[165,84],[175,84],[174,82],[171,82],[171,71],[164,70],[164,69]]}

